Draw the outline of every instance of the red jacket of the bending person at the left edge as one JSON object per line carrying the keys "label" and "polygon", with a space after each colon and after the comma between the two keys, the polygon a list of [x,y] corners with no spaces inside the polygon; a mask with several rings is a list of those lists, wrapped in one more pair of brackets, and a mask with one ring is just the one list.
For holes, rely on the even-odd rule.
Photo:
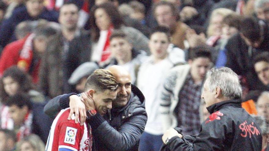
{"label": "red jacket of the bending person at the left edge", "polygon": [[[20,57],[20,52],[23,49],[25,41],[29,37],[29,35],[25,36],[23,39],[14,41],[4,47],[0,57],[0,77],[2,77],[3,73],[7,68],[17,65]],[[38,68],[39,65],[37,65],[34,71],[31,73],[34,83],[38,82]]]}

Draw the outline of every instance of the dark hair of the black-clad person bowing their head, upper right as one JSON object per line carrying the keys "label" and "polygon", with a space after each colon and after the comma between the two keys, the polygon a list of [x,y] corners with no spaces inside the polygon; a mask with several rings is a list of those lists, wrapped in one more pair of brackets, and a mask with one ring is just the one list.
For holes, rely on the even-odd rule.
{"label": "dark hair of the black-clad person bowing their head, upper right", "polygon": [[259,20],[254,17],[245,17],[240,24],[240,32],[250,41],[255,42],[263,39],[263,28]]}

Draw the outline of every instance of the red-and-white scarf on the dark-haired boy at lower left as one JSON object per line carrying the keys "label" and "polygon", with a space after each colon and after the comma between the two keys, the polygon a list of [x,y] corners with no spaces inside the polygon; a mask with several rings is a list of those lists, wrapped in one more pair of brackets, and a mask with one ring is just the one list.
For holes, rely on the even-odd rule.
{"label": "red-and-white scarf on the dark-haired boy at lower left", "polygon": [[31,134],[33,122],[33,114],[29,111],[24,117],[24,125],[22,125],[17,133],[17,139],[20,141],[25,136],[29,136]]}

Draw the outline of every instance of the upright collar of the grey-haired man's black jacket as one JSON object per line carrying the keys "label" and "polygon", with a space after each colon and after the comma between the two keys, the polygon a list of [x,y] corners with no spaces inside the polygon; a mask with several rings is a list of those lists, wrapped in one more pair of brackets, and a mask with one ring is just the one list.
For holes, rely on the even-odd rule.
{"label": "upright collar of the grey-haired man's black jacket", "polygon": [[236,99],[236,100],[227,100],[227,101],[222,101],[219,103],[215,103],[211,106],[208,106],[206,109],[208,110],[208,112],[210,114],[220,110],[221,108],[225,107],[225,106],[238,106],[241,107],[241,99]]}

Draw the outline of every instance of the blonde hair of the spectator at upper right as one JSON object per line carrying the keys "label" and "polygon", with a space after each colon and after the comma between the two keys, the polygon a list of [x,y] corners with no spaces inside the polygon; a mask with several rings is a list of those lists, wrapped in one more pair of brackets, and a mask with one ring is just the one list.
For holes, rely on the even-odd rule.
{"label": "blonde hair of the spectator at upper right", "polygon": [[226,17],[227,15],[230,15],[234,13],[234,11],[230,10],[230,9],[226,9],[226,8],[218,8],[213,10],[213,12],[211,13],[210,16],[210,21],[209,21],[209,25],[207,28],[207,37],[213,36],[214,35],[214,31],[213,31],[213,27],[212,27],[212,18],[216,15],[220,15],[223,18]]}

